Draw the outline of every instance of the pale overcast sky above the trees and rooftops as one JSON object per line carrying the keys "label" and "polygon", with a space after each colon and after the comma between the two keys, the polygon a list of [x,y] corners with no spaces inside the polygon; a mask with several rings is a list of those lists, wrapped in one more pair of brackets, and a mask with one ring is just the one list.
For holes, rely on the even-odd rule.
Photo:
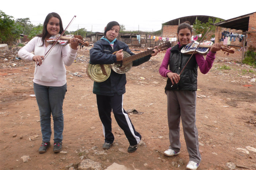
{"label": "pale overcast sky above the trees and rooftops", "polygon": [[[182,2],[182,3],[180,3]],[[43,24],[50,12],[60,15],[64,29],[76,15],[68,31],[85,28],[103,32],[106,24],[117,21],[126,30],[158,31],[173,19],[206,15],[222,19],[256,12],[255,0],[3,0],[0,10],[14,19],[29,18]]]}

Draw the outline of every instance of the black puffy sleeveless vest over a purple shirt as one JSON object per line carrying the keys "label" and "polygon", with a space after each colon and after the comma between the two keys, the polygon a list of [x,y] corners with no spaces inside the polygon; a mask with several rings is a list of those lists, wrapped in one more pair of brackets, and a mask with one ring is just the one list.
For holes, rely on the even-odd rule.
{"label": "black puffy sleeveless vest over a purple shirt", "polygon": [[[170,50],[169,67],[171,72],[180,74],[191,54],[185,55],[181,53],[180,49],[182,49],[182,47],[180,49],[178,49],[178,47],[179,45],[176,45]],[[197,67],[196,58],[193,56],[181,73],[178,84],[172,86],[172,82],[170,78],[168,78],[165,90],[197,90]]]}

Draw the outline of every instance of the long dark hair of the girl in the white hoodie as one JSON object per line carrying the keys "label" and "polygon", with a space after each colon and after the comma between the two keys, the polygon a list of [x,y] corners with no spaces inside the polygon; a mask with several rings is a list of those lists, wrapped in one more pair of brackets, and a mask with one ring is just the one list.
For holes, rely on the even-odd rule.
{"label": "long dark hair of the girl in the white hoodie", "polygon": [[[42,43],[43,43],[42,46],[44,45],[44,39],[45,39],[45,37],[48,35],[47,24],[48,24],[49,20],[50,20],[52,17],[56,17],[56,18],[58,18],[58,19],[60,20],[60,32],[59,32],[59,34],[61,34],[61,33],[64,31],[63,25],[62,25],[62,20],[61,20],[61,18],[60,18],[60,15],[57,14],[57,13],[55,13],[55,12],[49,13],[49,14],[46,16],[46,18],[45,18],[44,25],[43,25],[44,27],[43,27],[42,33],[37,35],[37,36],[39,36],[39,37],[42,37]],[[63,34],[63,35],[64,35],[64,34]]]}

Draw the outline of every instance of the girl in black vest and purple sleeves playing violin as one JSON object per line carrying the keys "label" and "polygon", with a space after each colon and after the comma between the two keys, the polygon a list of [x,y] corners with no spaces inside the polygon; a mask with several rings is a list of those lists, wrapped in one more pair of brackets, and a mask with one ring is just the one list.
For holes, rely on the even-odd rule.
{"label": "girl in black vest and purple sleeves playing violin", "polygon": [[211,69],[215,53],[221,49],[221,45],[219,43],[214,44],[206,59],[201,54],[194,54],[179,76],[191,56],[180,52],[184,45],[191,42],[192,27],[190,24],[180,24],[177,29],[177,36],[178,44],[167,49],[159,68],[161,76],[168,77],[165,93],[167,94],[170,146],[163,154],[168,157],[180,154],[180,120],[182,119],[184,138],[189,154],[186,168],[196,170],[201,161],[196,128],[197,67],[199,67],[200,72],[206,74]]}

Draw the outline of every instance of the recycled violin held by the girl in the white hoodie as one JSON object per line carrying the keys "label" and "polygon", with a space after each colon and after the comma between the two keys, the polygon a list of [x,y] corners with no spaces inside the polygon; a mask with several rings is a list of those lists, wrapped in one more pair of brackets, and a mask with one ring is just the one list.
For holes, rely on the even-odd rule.
{"label": "recycled violin held by the girl in the white hoodie", "polygon": [[[59,43],[60,45],[65,46],[70,43],[71,38],[74,38],[74,35],[60,36],[60,34],[57,34],[57,35],[50,36],[50,38],[47,39],[46,42],[53,44],[54,42],[57,41],[57,43]],[[84,42],[83,40],[78,39],[78,42],[86,47],[88,47],[90,45],[88,41]]]}

